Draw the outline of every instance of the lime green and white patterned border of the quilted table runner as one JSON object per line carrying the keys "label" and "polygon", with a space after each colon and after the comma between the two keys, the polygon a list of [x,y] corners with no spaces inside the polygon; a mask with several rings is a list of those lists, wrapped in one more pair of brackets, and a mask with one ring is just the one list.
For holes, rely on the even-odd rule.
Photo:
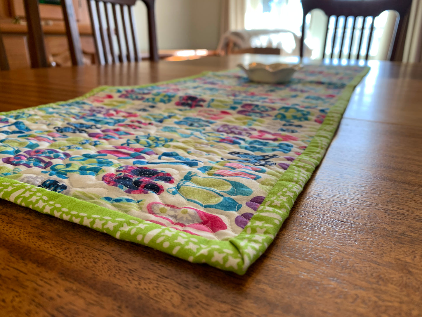
{"label": "lime green and white patterned border of the quilted table runner", "polygon": [[[150,246],[189,262],[207,263],[216,268],[243,275],[247,268],[268,248],[283,221],[289,216],[290,208],[292,208],[296,197],[330,145],[354,88],[368,71],[369,67],[363,68],[363,71],[344,88],[343,93],[328,112],[306,150],[283,173],[244,230],[230,240],[209,240],[68,197],[55,191],[3,177],[0,177],[0,199],[6,199],[41,213],[105,232],[121,240]],[[208,73],[135,87],[180,82]],[[109,87],[98,87],[76,99],[49,105],[81,100]],[[38,107],[45,107],[45,105]],[[1,112],[0,115],[22,112],[27,109],[29,108]]]}

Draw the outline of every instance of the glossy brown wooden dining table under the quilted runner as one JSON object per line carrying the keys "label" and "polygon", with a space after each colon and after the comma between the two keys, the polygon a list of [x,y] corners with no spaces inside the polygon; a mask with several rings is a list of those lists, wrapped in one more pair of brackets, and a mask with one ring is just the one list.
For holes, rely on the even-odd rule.
{"label": "glossy brown wooden dining table under the quilted runner", "polygon": [[[0,111],[279,59],[0,72]],[[245,275],[0,200],[0,316],[422,316],[422,64],[368,65],[325,158]]]}

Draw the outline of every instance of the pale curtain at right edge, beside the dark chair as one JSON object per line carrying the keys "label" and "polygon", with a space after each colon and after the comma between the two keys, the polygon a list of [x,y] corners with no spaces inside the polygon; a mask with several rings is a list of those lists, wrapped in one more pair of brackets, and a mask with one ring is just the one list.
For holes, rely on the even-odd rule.
{"label": "pale curtain at right edge, beside the dark chair", "polygon": [[413,0],[412,3],[403,62],[422,62],[422,0]]}

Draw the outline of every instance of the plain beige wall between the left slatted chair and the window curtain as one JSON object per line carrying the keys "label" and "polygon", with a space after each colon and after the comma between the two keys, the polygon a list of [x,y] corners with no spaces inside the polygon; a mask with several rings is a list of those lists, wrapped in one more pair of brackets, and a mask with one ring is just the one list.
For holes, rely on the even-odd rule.
{"label": "plain beige wall between the left slatted chair and the window curtain", "polygon": [[[156,0],[159,49],[215,49],[220,36],[221,0]],[[145,5],[135,5],[141,50],[148,50]]]}

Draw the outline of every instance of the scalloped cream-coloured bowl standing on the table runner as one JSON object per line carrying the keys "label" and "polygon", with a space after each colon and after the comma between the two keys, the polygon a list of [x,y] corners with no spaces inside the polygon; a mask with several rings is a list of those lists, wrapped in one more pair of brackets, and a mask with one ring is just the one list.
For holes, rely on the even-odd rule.
{"label": "scalloped cream-coloured bowl standing on the table runner", "polygon": [[251,63],[248,67],[238,64],[238,67],[245,71],[246,75],[253,82],[264,82],[267,84],[285,84],[290,81],[293,74],[302,66],[275,63],[265,65],[262,63]]}

